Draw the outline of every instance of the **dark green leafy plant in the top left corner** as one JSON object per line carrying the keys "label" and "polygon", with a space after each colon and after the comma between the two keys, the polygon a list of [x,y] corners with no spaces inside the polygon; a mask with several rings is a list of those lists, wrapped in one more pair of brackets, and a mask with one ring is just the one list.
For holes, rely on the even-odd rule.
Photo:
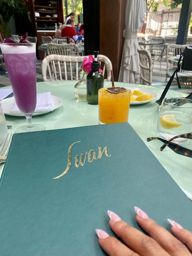
{"label": "dark green leafy plant in the top left corner", "polygon": [[27,13],[30,19],[25,0],[0,0],[0,10],[0,32],[5,38],[10,36],[8,23],[15,14]]}

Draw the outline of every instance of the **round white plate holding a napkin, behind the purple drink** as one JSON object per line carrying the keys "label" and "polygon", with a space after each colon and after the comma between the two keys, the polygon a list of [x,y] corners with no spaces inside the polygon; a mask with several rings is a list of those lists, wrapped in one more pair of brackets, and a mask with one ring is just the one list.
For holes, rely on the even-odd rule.
{"label": "round white plate holding a napkin, behind the purple drink", "polygon": [[[52,103],[53,103],[53,110],[59,108],[62,105],[62,100],[56,96],[51,95],[51,99],[52,99]],[[14,103],[15,103],[15,99],[14,97],[11,98],[7,98],[4,100],[0,101],[2,104],[2,108],[4,111],[5,115],[9,115],[9,116],[24,116],[22,113],[10,113],[10,110],[12,109]],[[33,116],[37,116],[37,115],[43,115],[45,113],[49,113],[50,111],[42,111],[42,112],[35,112],[33,114]]]}

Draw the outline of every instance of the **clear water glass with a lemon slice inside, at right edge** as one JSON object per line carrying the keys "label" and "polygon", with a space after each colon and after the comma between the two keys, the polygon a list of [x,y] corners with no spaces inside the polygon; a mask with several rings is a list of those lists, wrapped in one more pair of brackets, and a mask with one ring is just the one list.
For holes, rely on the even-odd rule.
{"label": "clear water glass with a lemon slice inside, at right edge", "polygon": [[[182,133],[192,132],[192,100],[165,98],[159,107],[157,130],[159,135],[166,140]],[[185,140],[178,138],[175,142]]]}

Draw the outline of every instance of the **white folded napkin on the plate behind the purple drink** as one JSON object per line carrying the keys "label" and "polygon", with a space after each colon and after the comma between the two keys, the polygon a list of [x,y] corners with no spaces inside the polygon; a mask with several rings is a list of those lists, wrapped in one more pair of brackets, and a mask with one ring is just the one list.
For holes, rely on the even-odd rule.
{"label": "white folded napkin on the plate behind the purple drink", "polygon": [[[34,112],[53,111],[53,102],[51,92],[37,93],[37,105]],[[16,103],[10,110],[10,113],[21,113]]]}

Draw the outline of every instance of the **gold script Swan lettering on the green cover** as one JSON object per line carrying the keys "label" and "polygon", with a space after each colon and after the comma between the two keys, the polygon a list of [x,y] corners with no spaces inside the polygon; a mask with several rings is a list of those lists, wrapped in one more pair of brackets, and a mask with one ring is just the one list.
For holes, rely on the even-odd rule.
{"label": "gold script Swan lettering on the green cover", "polygon": [[[71,166],[71,150],[72,150],[72,147],[76,144],[76,143],[79,143],[81,141],[76,141],[74,142],[73,144],[70,145],[69,149],[68,149],[68,164],[67,164],[67,167],[65,169],[65,171],[63,173],[61,173],[59,176],[57,177],[54,177],[53,179],[59,179],[61,178],[63,175],[65,175],[69,169],[70,169],[70,166]],[[74,158],[75,158],[75,167],[78,168],[79,165],[81,166],[84,166],[85,165],[85,162],[86,160],[89,162],[89,163],[92,163],[93,160],[97,160],[98,158],[102,158],[102,155],[103,153],[105,152],[105,155],[107,157],[110,157],[110,155],[108,155],[108,152],[107,152],[107,147],[104,147],[103,150],[102,150],[102,147],[98,147],[99,151],[98,151],[98,156],[97,156],[97,153],[91,149],[89,152],[85,152],[85,156],[84,154],[81,154],[80,155],[80,158],[79,158],[79,155],[76,155]]]}

